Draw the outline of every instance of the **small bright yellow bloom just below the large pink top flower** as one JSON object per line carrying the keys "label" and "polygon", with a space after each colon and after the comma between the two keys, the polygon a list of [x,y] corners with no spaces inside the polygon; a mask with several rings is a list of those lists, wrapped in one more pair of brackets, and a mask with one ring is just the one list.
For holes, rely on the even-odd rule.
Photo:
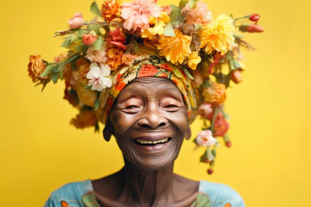
{"label": "small bright yellow bloom just below the large pink top flower", "polygon": [[142,38],[148,38],[151,40],[156,35],[164,34],[165,23],[169,22],[169,20],[170,19],[166,11],[161,12],[158,17],[151,16],[149,24],[153,26],[144,30]]}

